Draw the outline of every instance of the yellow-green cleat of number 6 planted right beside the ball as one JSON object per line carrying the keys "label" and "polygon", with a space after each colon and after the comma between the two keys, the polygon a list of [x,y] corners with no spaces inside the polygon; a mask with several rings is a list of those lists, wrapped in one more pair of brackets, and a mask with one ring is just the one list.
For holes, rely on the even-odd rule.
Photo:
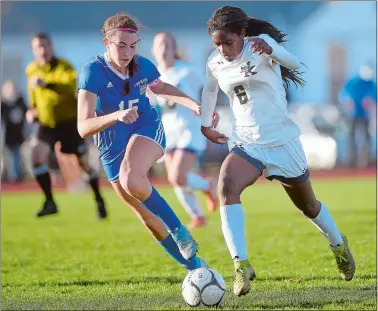
{"label": "yellow-green cleat of number 6 planted right beside the ball", "polygon": [[248,259],[241,261],[234,261],[235,268],[235,281],[234,281],[234,294],[236,296],[243,296],[251,289],[252,281],[256,278],[255,270],[252,268]]}

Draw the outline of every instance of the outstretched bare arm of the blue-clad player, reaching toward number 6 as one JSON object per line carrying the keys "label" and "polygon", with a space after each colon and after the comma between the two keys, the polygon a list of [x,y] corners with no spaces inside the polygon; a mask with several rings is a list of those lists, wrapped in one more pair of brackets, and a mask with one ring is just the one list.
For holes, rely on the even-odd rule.
{"label": "outstretched bare arm of the blue-clad player, reaching toward number 6", "polygon": [[188,107],[199,115],[201,114],[201,106],[193,98],[189,97],[172,84],[160,80],[159,83],[153,86],[150,85],[149,88],[155,95]]}

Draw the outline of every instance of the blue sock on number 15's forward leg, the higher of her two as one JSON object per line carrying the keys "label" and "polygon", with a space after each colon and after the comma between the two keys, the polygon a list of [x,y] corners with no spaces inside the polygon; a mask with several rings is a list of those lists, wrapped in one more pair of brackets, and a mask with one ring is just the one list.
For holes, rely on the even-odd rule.
{"label": "blue sock on number 15's forward leg, the higher of her two", "polygon": [[142,203],[151,213],[155,214],[163,221],[168,231],[173,232],[181,226],[181,222],[175,212],[154,187],[152,187],[151,195]]}

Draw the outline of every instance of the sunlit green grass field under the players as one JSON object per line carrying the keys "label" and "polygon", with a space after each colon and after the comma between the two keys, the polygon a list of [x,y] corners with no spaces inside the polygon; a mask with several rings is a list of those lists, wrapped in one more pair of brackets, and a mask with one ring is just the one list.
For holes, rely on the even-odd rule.
{"label": "sunlit green grass field under the players", "polygon": [[[227,283],[224,309],[376,310],[375,179],[313,185],[348,236],[355,278],[341,280],[326,240],[278,183],[258,183],[243,195],[248,252],[258,277],[250,294],[232,294],[233,266],[219,213],[207,213],[208,226],[194,231],[199,255]],[[171,188],[159,189],[188,222]],[[56,195],[60,214],[36,219],[39,193],[2,194],[2,310],[189,309],[181,297],[185,270],[110,189],[106,199],[106,221],[96,219],[90,193],[65,192]]]}

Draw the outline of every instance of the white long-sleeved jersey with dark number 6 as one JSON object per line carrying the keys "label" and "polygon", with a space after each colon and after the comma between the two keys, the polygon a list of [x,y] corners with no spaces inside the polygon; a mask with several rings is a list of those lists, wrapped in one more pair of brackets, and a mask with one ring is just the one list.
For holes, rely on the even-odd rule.
{"label": "white long-sleeved jersey with dark number 6", "polygon": [[[278,64],[296,69],[299,61],[270,36],[259,37],[272,47],[272,55],[254,53],[252,43],[246,41],[248,38],[242,52],[232,62],[227,62],[218,51],[210,55],[202,102],[214,101],[219,85],[228,96],[235,117],[232,140],[255,147],[273,147],[300,134],[287,111]],[[208,108],[213,107],[208,104]],[[212,111],[207,113],[204,109],[202,125],[209,126]]]}

